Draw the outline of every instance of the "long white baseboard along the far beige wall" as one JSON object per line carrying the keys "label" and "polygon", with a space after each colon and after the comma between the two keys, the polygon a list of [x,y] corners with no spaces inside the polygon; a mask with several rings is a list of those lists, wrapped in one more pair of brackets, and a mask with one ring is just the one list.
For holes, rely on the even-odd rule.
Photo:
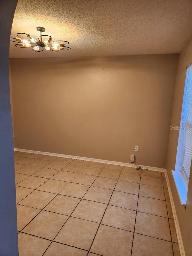
{"label": "long white baseboard along the far beige wall", "polygon": [[[102,159],[96,159],[96,158],[88,158],[88,157],[82,157],[82,156],[63,155],[63,154],[41,152],[41,151],[28,150],[28,149],[14,149],[14,151],[33,153],[33,154],[41,154],[41,155],[51,155],[51,156],[58,156],[58,157],[66,157],[66,158],[72,158],[72,159],[78,159],[78,160],[99,162],[99,163],[105,163],[105,164],[114,164],[114,165],[120,165],[120,166],[134,167],[135,168],[135,164],[115,162],[115,161],[102,160]],[[145,166],[145,165],[140,165],[140,164],[137,164],[137,165],[140,166],[142,169],[148,169],[148,170],[151,170],[151,171],[158,171],[158,172],[165,172],[166,171],[166,169],[164,169],[164,168]]]}

